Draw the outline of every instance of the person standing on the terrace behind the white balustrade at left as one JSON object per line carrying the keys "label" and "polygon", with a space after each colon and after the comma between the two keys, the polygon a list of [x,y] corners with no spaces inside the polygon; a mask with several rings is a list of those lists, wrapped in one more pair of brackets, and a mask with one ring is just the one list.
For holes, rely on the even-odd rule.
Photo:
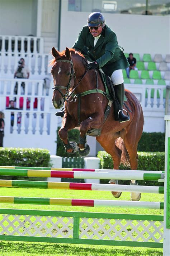
{"label": "person standing on the terrace behind the white balustrade at left", "polygon": [[[14,73],[14,78],[29,78],[29,68],[27,66],[25,66],[25,60],[23,58],[21,58],[19,60],[19,66],[16,69],[15,73]],[[23,88],[23,91],[25,91],[25,83],[22,82],[21,86]],[[18,93],[18,82],[16,82],[15,84],[15,88],[14,88],[14,94]]]}

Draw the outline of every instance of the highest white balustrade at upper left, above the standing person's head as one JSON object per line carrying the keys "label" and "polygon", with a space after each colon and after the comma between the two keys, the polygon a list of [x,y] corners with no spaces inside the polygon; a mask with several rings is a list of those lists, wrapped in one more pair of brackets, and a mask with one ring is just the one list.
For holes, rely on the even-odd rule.
{"label": "highest white balustrade at upper left, above the standing person's head", "polygon": [[43,47],[42,37],[0,35],[1,52],[43,53]]}

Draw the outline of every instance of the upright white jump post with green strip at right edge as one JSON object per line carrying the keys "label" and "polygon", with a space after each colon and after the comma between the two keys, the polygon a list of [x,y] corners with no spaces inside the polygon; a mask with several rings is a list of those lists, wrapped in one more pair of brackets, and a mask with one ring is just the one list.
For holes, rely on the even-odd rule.
{"label": "upright white jump post with green strip at right edge", "polygon": [[170,253],[170,116],[165,116],[164,256]]}

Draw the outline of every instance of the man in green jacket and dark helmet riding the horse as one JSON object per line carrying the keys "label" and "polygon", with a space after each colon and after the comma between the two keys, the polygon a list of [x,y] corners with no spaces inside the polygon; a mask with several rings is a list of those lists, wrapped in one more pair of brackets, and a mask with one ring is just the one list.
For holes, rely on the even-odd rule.
{"label": "man in green jacket and dark helmet riding the horse", "polygon": [[[87,26],[82,28],[72,48],[81,51],[90,61],[87,69],[101,68],[107,76],[111,77],[120,108],[115,120],[129,121],[129,116],[123,113],[124,80],[122,72],[122,69],[126,69],[129,63],[123,49],[118,45],[116,34],[105,24],[103,14],[94,12],[89,15]],[[63,116],[63,114],[64,111],[57,112],[56,116]]]}

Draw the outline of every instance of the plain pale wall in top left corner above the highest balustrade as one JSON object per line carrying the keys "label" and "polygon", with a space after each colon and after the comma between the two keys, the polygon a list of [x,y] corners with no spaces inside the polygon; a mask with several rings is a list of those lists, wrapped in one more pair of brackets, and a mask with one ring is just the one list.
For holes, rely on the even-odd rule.
{"label": "plain pale wall in top left corner above the highest balustrade", "polygon": [[1,35],[36,36],[37,0],[0,0],[0,23]]}

